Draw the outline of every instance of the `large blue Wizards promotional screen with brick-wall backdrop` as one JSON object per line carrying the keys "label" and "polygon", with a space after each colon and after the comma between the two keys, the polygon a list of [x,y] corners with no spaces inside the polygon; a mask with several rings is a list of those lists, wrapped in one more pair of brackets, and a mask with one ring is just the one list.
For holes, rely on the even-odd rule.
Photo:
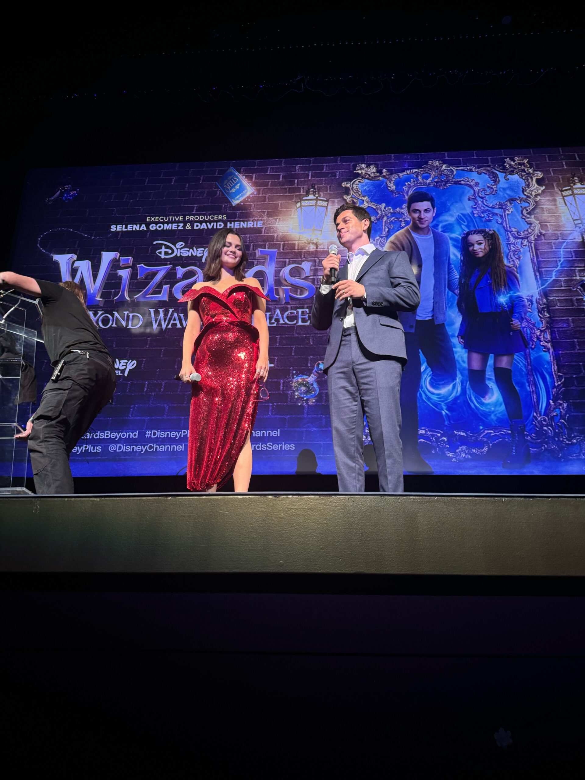
{"label": "large blue Wizards promotional screen with brick-wall backdrop", "polygon": [[[493,358],[478,393],[458,338],[462,236],[488,229],[500,239],[523,299],[523,346],[512,363],[531,452],[521,473],[580,473],[584,151],[438,151],[30,171],[12,270],[80,282],[118,374],[114,402],[73,451],[73,476],[185,473],[190,387],[174,379],[186,324],[186,304],[178,300],[202,281],[207,244],[223,227],[243,236],[247,275],[261,282],[271,300],[270,398],[258,405],[254,473],[335,473],[321,363],[327,333],[310,325],[321,260],[337,243],[333,215],[345,203],[366,207],[372,243],[384,249],[408,229],[406,201],[414,190],[433,197],[431,235],[435,246],[441,236],[447,239],[453,269],[445,288],[448,338],[441,354],[449,353],[445,361],[454,359],[455,369],[445,382],[441,354],[423,351],[420,380],[414,380],[421,455],[435,473],[505,473],[510,421]],[[346,262],[345,250],[340,254]],[[501,303],[512,321],[512,308]],[[42,388],[50,375],[42,346],[37,373]],[[367,420],[363,436],[367,468],[375,471]]]}

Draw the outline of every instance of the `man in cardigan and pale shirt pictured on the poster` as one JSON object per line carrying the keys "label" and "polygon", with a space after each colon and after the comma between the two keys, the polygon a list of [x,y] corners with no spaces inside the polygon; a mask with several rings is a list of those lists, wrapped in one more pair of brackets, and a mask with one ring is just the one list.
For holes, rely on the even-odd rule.
{"label": "man in cardigan and pale shirt pictured on the poster", "polygon": [[447,289],[457,295],[459,276],[451,262],[451,243],[444,233],[431,228],[437,209],[434,197],[414,190],[406,201],[410,225],[391,236],[388,250],[406,252],[420,287],[420,305],[415,311],[399,314],[406,339],[408,363],[402,375],[402,458],[405,471],[432,474],[433,469],[418,449],[418,392],[420,353],[432,372],[432,385],[449,388],[457,379],[455,353],[447,328]]}

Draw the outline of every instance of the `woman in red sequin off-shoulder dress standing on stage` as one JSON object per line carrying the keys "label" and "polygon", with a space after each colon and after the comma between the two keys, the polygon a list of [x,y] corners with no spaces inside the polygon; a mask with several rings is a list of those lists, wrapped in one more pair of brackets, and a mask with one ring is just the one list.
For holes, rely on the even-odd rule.
{"label": "woman in red sequin off-shoulder dress standing on stage", "polygon": [[[193,382],[187,488],[215,492],[233,474],[245,493],[252,473],[250,433],[259,383],[268,377],[268,324],[260,283],[245,278],[242,237],[225,228],[211,239],[203,282],[190,289],[180,377]],[[194,361],[193,361],[193,353]]]}

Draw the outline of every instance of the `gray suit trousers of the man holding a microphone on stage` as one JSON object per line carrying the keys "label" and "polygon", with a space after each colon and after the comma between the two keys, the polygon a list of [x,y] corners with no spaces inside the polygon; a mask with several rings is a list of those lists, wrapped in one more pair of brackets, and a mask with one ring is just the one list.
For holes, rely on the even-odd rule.
{"label": "gray suit trousers of the man holding a microphone on stage", "polygon": [[339,491],[363,493],[363,415],[367,417],[382,493],[402,493],[402,363],[369,353],[355,328],[344,332],[327,386]]}

